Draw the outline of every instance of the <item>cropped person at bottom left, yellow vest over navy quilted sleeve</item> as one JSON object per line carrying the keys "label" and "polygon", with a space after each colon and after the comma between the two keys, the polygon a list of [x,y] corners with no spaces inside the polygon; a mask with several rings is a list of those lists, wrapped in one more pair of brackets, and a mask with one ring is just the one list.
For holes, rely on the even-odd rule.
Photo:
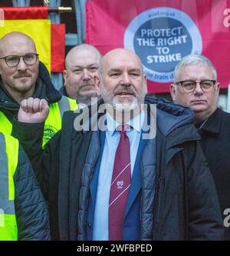
{"label": "cropped person at bottom left, yellow vest over navy quilted sleeve", "polygon": [[18,140],[0,133],[0,241],[50,240],[48,211]]}

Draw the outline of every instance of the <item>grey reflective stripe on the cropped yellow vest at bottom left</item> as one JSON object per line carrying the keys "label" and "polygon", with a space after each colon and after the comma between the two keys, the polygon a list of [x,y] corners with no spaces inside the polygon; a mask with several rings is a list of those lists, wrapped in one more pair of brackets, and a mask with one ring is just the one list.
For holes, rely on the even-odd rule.
{"label": "grey reflective stripe on the cropped yellow vest at bottom left", "polygon": [[5,137],[0,133],[0,208],[5,214],[15,214],[15,203],[9,200],[9,173],[8,173],[8,157],[6,155]]}

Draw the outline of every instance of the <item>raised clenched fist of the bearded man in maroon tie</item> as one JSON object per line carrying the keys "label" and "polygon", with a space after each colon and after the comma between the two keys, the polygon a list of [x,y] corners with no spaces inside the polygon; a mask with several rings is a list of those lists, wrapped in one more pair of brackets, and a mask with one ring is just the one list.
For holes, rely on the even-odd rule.
{"label": "raised clenched fist of the bearded man in maroon tie", "polygon": [[22,123],[42,123],[49,114],[48,102],[39,98],[28,98],[21,101],[18,121]]}

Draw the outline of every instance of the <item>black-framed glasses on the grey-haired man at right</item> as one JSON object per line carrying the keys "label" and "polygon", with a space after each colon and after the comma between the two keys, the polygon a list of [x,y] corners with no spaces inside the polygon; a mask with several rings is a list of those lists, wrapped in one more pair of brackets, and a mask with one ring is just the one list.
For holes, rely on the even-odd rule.
{"label": "black-framed glasses on the grey-haired man at right", "polygon": [[176,85],[181,85],[183,91],[186,92],[193,92],[195,91],[196,85],[199,84],[200,88],[202,88],[202,91],[207,92],[211,91],[212,88],[214,88],[216,81],[215,80],[203,80],[203,81],[177,81]]}

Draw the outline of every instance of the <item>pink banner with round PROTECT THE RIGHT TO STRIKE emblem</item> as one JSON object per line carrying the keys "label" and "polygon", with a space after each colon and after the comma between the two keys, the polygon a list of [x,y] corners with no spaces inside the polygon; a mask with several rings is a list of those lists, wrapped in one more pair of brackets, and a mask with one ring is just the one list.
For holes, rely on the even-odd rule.
{"label": "pink banner with round PROTECT THE RIGHT TO STRIKE emblem", "polygon": [[168,92],[185,55],[207,56],[222,88],[230,84],[230,0],[90,0],[87,43],[105,54],[129,48],[140,56],[149,92]]}

